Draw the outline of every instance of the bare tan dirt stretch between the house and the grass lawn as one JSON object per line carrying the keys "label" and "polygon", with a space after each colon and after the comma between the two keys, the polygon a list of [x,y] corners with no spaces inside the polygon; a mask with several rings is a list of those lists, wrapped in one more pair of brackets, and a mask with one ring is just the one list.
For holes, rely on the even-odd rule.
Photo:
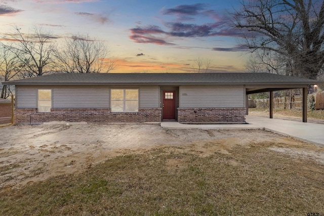
{"label": "bare tan dirt stretch between the house and the grass lawn", "polygon": [[[158,124],[19,125],[0,128],[0,188],[18,188],[62,174],[83,171],[107,158],[145,152],[157,146],[195,145],[200,155],[228,154],[235,145],[251,142],[290,144],[271,147],[296,157],[324,163],[324,151],[291,138],[262,130],[165,129]],[[209,149],[204,144],[214,142]],[[278,145],[280,146],[280,145]]]}

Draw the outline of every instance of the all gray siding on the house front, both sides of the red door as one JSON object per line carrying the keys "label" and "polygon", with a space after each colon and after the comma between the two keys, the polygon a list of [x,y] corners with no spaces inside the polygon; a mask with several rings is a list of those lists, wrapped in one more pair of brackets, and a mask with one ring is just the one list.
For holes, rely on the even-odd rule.
{"label": "all gray siding on the house front, both sides of the red door", "polygon": [[[17,86],[16,106],[37,108],[37,89],[52,89],[53,108],[109,108],[110,88],[114,87]],[[139,89],[140,108],[159,107],[157,85],[132,88]],[[244,85],[182,85],[179,98],[180,108],[235,108],[245,105]]]}

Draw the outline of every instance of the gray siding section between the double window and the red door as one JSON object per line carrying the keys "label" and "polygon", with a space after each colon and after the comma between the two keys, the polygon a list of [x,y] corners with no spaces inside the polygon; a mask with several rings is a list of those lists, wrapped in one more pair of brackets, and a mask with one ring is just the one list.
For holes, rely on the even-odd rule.
{"label": "gray siding section between the double window and the red door", "polygon": [[149,85],[140,87],[140,108],[158,108],[158,86]]}

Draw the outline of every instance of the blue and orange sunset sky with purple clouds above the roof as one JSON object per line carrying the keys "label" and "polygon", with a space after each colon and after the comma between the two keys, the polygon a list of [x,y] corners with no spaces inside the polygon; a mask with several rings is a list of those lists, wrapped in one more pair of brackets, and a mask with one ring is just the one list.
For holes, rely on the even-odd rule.
{"label": "blue and orange sunset sky with purple clouds above the roof", "polygon": [[117,60],[113,72],[190,72],[197,58],[212,60],[211,72],[239,72],[248,54],[230,27],[233,8],[238,0],[0,0],[0,34],[89,33]]}

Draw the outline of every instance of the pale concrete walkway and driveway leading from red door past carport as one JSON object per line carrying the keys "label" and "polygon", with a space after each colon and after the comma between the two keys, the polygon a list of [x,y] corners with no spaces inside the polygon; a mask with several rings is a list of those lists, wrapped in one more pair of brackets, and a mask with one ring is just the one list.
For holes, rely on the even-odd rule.
{"label": "pale concrete walkway and driveway leading from red door past carport", "polygon": [[264,128],[269,131],[294,137],[324,147],[324,124],[304,123],[259,116],[246,116],[247,124],[180,124],[176,121],[161,122],[161,127],[170,129],[256,129]]}

